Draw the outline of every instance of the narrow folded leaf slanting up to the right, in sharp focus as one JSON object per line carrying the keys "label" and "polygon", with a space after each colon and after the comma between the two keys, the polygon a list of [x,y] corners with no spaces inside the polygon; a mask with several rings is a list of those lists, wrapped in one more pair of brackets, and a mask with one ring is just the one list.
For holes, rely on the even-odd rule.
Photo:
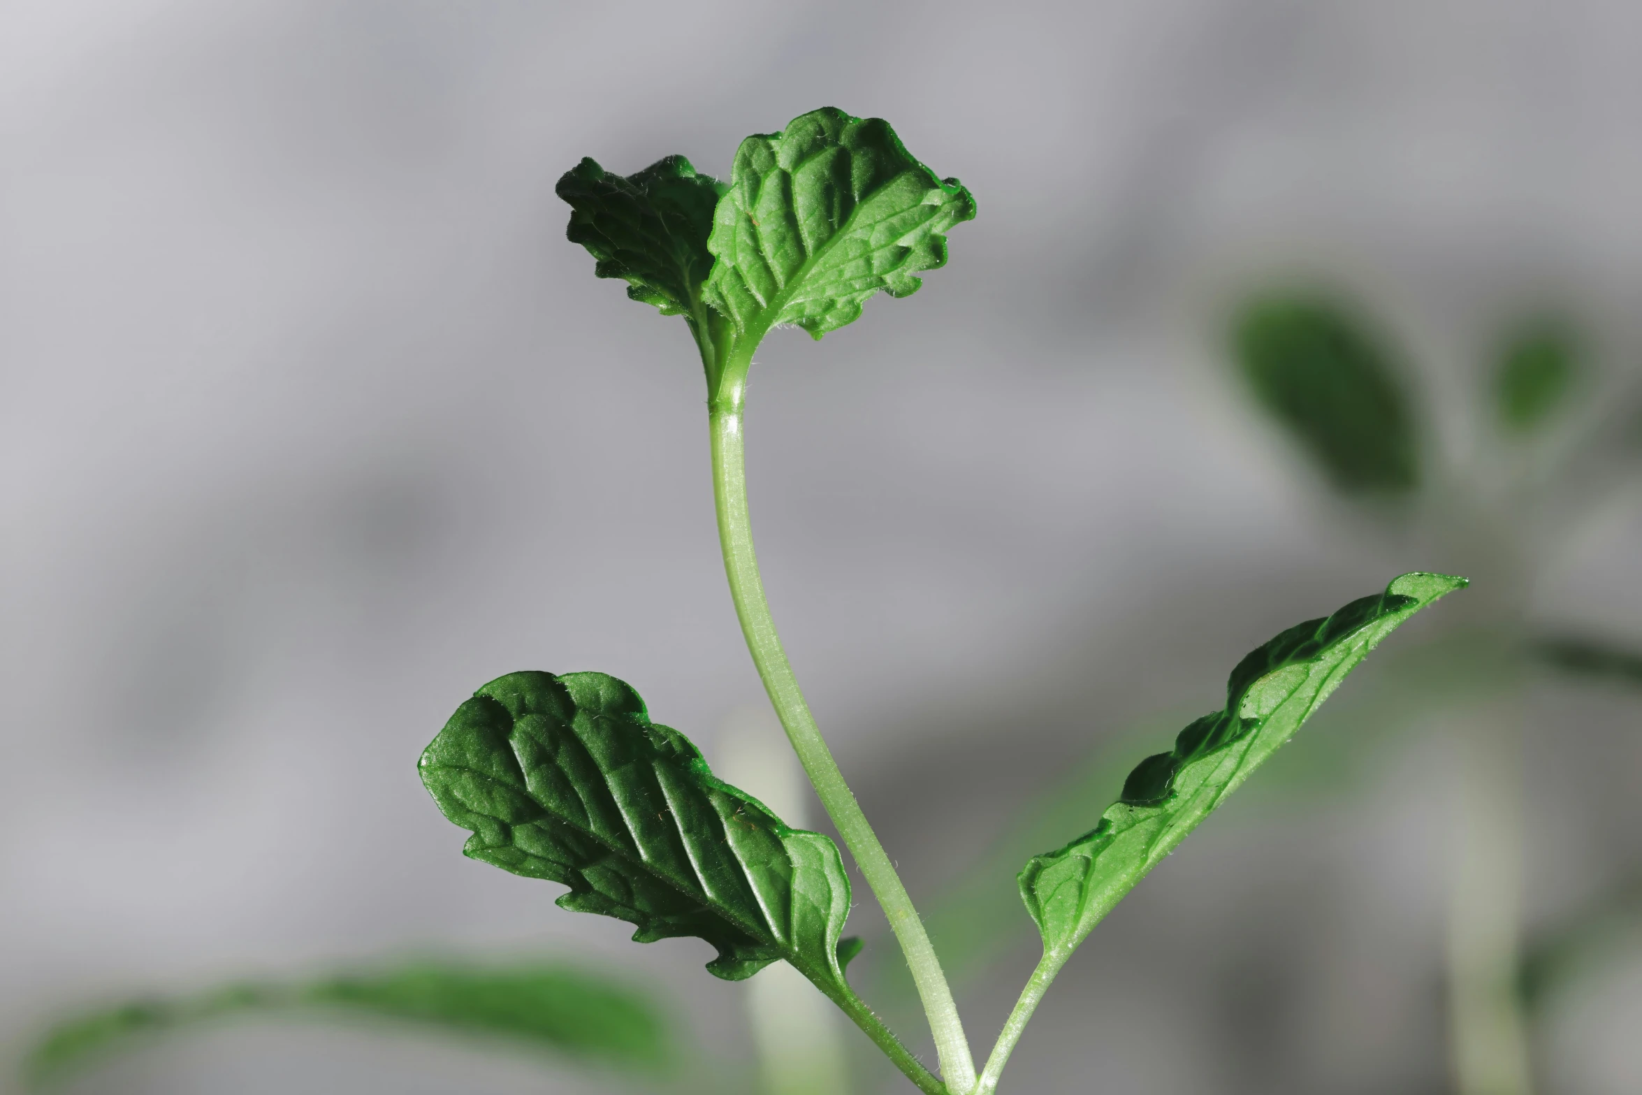
{"label": "narrow folded leaf slanting up to the right, in sharp focus", "polygon": [[1328,698],[1374,645],[1463,578],[1412,573],[1386,593],[1291,627],[1232,671],[1227,706],[1130,773],[1100,824],[1020,873],[1044,951],[1069,954],[1227,795]]}

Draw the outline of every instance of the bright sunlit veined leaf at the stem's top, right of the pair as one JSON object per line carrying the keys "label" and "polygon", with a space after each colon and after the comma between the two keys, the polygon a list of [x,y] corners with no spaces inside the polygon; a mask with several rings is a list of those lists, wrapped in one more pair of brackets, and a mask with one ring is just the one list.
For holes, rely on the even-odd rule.
{"label": "bright sunlit veined leaf at the stem's top, right of the pair", "polygon": [[974,215],[969,190],[918,163],[888,121],[823,107],[741,143],[713,215],[706,299],[739,341],[777,323],[821,338],[880,289],[916,292],[916,274],[946,263],[944,233]]}

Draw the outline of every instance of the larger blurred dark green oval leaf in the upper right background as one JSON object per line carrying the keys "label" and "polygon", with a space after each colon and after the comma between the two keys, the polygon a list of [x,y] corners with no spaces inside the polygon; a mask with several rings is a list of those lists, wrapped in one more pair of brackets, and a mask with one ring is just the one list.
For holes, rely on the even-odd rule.
{"label": "larger blurred dark green oval leaf in the upper right background", "polygon": [[1414,420],[1391,356],[1350,312],[1314,297],[1246,305],[1233,351],[1261,405],[1345,493],[1415,486]]}

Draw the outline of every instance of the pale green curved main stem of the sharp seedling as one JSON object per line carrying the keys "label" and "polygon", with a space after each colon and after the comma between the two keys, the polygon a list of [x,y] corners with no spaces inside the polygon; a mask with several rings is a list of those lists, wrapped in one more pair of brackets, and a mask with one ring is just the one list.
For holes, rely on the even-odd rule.
{"label": "pale green curved main stem of the sharp seedling", "polygon": [[736,616],[747,637],[747,650],[759,668],[764,688],[770,693],[775,714],[782,719],[787,739],[793,744],[810,783],[821,798],[828,818],[837,826],[839,836],[855,857],[862,877],[872,888],[883,914],[890,921],[895,939],[901,944],[906,965],[911,969],[918,996],[929,1016],[936,1052],[941,1057],[941,1075],[952,1095],[970,1095],[975,1087],[975,1062],[969,1054],[964,1024],[957,1016],[952,990],[941,972],[929,936],[924,932],[918,909],[906,896],[895,865],[878,842],[878,836],[860,811],[855,795],[844,783],[832,752],[821,739],[810,704],[798,690],[798,678],[787,662],[782,639],[770,619],[770,606],[764,596],[764,580],[759,576],[759,560],[752,550],[752,522],[747,515],[747,470],[742,443],[742,409],[747,391],[747,363],[729,360],[724,371],[713,378],[713,397],[708,404],[713,425],[713,499],[718,509],[719,545],[724,550],[724,571],[729,576],[729,594],[736,601]]}

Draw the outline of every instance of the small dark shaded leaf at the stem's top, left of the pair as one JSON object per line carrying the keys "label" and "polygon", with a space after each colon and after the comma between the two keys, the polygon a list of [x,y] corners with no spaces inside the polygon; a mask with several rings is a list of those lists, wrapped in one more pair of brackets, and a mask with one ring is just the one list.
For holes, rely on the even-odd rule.
{"label": "small dark shaded leaf at the stem's top, left of the pair", "polygon": [[598,259],[596,276],[627,281],[629,297],[662,315],[685,315],[691,327],[713,320],[701,286],[713,268],[708,233],[722,182],[698,174],[683,156],[626,177],[583,159],[555,192],[571,208],[570,241]]}

